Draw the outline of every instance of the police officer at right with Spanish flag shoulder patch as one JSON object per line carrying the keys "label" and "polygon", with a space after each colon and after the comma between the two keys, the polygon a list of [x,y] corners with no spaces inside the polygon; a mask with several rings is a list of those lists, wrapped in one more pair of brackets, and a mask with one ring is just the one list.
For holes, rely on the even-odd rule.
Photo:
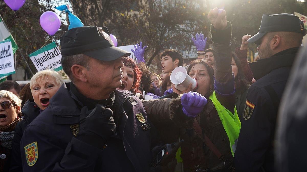
{"label": "police officer at right with Spanish flag shoulder patch", "polygon": [[293,14],[262,15],[259,32],[248,42],[259,46],[250,63],[256,82],[247,93],[235,151],[236,171],[274,171],[273,139],[279,102],[290,69],[306,35],[303,21]]}

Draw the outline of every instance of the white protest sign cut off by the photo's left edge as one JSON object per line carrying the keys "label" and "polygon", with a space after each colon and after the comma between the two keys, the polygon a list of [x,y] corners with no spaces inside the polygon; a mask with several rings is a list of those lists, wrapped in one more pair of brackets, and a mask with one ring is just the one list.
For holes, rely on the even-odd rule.
{"label": "white protest sign cut off by the photo's left edge", "polygon": [[0,78],[15,73],[11,39],[0,42]]}

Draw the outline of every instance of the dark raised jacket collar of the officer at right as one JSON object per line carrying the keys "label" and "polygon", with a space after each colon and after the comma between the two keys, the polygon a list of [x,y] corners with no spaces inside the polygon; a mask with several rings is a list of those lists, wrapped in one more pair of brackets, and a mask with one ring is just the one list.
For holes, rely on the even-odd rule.
{"label": "dark raised jacket collar of the officer at right", "polygon": [[272,57],[258,60],[257,62],[250,63],[251,70],[253,72],[255,80],[262,78],[269,74],[272,70],[291,67],[299,47],[289,48],[283,50]]}

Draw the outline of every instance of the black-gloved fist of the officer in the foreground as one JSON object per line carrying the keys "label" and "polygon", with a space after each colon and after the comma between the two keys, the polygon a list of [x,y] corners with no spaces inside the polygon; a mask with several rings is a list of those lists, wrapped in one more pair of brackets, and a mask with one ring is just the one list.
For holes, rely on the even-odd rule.
{"label": "black-gloved fist of the officer in the foreground", "polygon": [[110,108],[97,104],[93,110],[83,107],[80,112],[79,133],[77,139],[103,149],[107,140],[116,131]]}

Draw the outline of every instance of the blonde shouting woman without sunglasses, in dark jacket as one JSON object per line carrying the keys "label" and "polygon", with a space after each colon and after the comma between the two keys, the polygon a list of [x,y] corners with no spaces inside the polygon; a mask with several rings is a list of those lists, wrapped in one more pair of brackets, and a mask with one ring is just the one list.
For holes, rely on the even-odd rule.
{"label": "blonde shouting woman without sunglasses, in dark jacket", "polygon": [[33,99],[29,99],[22,107],[25,119],[20,122],[16,129],[12,145],[12,161],[10,171],[22,171],[20,140],[25,127],[29,125],[43,110],[49,107],[49,100],[63,84],[62,77],[53,70],[43,70],[30,80],[30,89]]}

